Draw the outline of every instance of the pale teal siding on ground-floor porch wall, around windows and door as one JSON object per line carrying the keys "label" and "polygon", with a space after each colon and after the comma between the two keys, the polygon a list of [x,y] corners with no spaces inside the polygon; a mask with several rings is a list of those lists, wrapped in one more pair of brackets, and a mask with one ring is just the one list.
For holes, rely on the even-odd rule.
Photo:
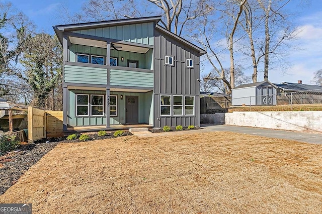
{"label": "pale teal siding on ground-floor porch wall, around windows and door", "polygon": [[[106,116],[95,117],[76,117],[76,94],[104,94],[106,91],[93,90],[69,90],[68,105],[68,125],[75,126],[98,126],[106,125]],[[126,96],[138,96],[138,123],[147,123],[153,125],[153,92],[131,93],[131,92],[115,92],[111,91],[111,95],[117,95],[117,116],[110,117],[110,124],[125,124],[125,100]],[[123,95],[123,99],[121,99]],[[105,97],[106,100],[106,97]],[[104,103],[106,104],[106,103]],[[105,108],[104,108],[105,109]]]}

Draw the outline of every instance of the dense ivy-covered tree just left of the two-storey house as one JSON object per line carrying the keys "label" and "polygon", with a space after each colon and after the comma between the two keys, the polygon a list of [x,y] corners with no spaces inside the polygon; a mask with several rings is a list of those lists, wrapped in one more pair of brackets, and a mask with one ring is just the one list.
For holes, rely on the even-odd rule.
{"label": "dense ivy-covered tree just left of the two-storey house", "polygon": [[62,48],[56,36],[40,33],[26,43],[20,63],[32,88],[33,104],[62,109]]}

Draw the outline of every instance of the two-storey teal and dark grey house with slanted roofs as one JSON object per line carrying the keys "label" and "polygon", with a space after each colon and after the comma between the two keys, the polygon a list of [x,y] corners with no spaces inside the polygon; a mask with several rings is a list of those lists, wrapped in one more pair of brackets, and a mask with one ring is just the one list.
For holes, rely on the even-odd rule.
{"label": "two-storey teal and dark grey house with slanted roofs", "polygon": [[205,51],[159,26],[160,19],[53,27],[63,46],[64,130],[200,125]]}

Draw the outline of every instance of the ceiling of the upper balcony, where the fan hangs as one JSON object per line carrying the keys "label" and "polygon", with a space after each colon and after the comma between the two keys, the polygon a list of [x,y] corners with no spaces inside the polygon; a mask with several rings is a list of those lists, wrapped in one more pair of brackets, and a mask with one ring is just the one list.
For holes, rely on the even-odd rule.
{"label": "ceiling of the upper balcony, where the fan hangs", "polygon": [[[70,40],[70,43],[76,44],[76,45],[86,45],[86,46],[92,46],[92,47],[98,47],[98,48],[107,48],[107,43],[105,41],[78,38],[78,37],[72,37],[72,36],[69,36],[69,40]],[[143,53],[143,54],[149,51],[149,48],[138,47],[135,45],[125,45],[117,42],[114,42],[113,44],[115,47],[117,47],[117,50],[119,51],[128,51],[128,52]]]}

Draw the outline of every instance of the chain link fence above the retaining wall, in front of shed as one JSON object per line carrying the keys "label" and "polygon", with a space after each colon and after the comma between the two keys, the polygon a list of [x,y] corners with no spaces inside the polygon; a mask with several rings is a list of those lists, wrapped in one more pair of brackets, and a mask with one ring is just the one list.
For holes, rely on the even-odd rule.
{"label": "chain link fence above the retaining wall, in front of shed", "polygon": [[[214,114],[217,112],[227,112],[230,106],[249,106],[250,110],[258,109],[260,106],[277,106],[283,107],[287,105],[289,110],[294,110],[294,106],[306,106],[310,104],[322,103],[322,89],[284,92],[270,95],[260,96],[245,96],[240,98],[227,98],[226,100],[206,102],[204,113],[201,114]],[[202,104],[202,103],[201,103]],[[295,109],[295,110],[298,110]]]}

